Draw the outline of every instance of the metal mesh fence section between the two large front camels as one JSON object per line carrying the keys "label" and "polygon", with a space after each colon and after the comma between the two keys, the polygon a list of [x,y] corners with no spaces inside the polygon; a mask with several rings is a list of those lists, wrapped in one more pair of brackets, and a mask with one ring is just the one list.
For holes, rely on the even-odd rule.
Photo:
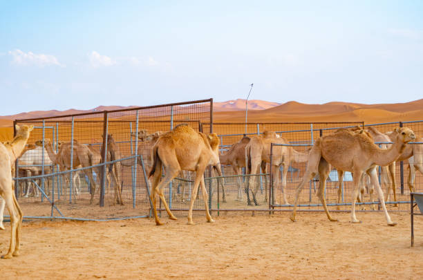
{"label": "metal mesh fence section between the two large front camels", "polygon": [[[209,124],[203,124],[203,128],[207,129]],[[250,138],[261,135],[264,131],[274,131],[279,136],[287,140],[290,144],[297,144],[297,151],[300,153],[307,153],[309,146],[312,145],[314,140],[327,133],[332,133],[339,128],[346,127],[363,127],[363,122],[248,122],[245,123],[233,123],[233,122],[214,122],[213,130],[218,133],[220,137],[220,153],[226,153],[232,144],[240,141],[243,136]],[[270,146],[268,147],[270,149]],[[268,153],[268,151],[267,151]],[[267,155],[267,158],[269,156]],[[270,159],[270,158],[269,158]],[[250,179],[252,184],[250,187],[257,186],[258,190],[258,203],[259,205],[247,205],[247,198],[245,194],[245,180],[249,180],[244,176],[238,178],[231,165],[223,165],[223,174],[225,178],[225,198],[226,202],[222,201],[220,196],[218,200],[213,200],[213,209],[220,209],[225,211],[241,211],[241,210],[257,210],[264,211],[269,207],[268,198],[268,182],[269,182],[269,160],[267,160],[267,168],[265,173],[259,173],[262,175],[252,176]],[[242,165],[242,174],[245,174],[245,164]],[[287,168],[286,187],[285,192],[287,194],[288,201],[292,201],[295,185],[299,183],[303,175],[305,162],[292,162]],[[262,171],[263,172],[263,171]],[[283,178],[283,168],[280,169],[279,183]],[[241,181],[241,182],[240,182]],[[214,183],[216,185],[216,183]],[[238,188],[241,185],[241,192],[243,198],[238,199]],[[279,186],[280,187],[280,186]],[[214,188],[216,189],[216,188]],[[281,194],[278,192],[277,199],[281,198]]]}

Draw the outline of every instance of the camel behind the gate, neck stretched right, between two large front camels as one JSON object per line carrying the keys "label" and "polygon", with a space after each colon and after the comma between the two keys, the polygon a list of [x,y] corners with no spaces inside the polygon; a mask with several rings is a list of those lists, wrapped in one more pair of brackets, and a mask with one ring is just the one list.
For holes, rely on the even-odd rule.
{"label": "camel behind the gate, neck stretched right, between two large front camels", "polygon": [[[276,133],[270,131],[264,131],[263,136],[253,137],[245,147],[245,166],[247,167],[246,174],[257,174],[262,162],[270,163],[270,144],[289,144],[289,142]],[[283,166],[282,174],[282,193],[283,203],[289,204],[286,199],[285,186],[286,186],[286,175],[288,174],[288,167],[292,162],[306,162],[308,160],[308,153],[301,153],[296,151],[289,146],[274,146],[273,158],[272,158],[272,173],[274,174],[274,186],[277,186],[279,176],[279,167]],[[254,183],[254,176],[250,176],[246,180],[247,186],[245,192],[247,193],[247,205],[252,205],[250,200],[250,184]],[[256,186],[252,189],[252,198],[255,205],[259,205],[256,200],[256,192],[258,188]],[[274,192],[272,193],[272,200],[274,199]],[[266,201],[266,200],[265,200]]]}

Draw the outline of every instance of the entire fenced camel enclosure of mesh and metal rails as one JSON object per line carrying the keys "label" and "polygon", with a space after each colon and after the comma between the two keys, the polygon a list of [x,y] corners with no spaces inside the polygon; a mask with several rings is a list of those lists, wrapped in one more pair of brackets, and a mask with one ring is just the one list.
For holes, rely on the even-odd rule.
{"label": "entire fenced camel enclosure of mesh and metal rails", "polygon": [[[200,100],[117,111],[16,120],[16,124],[35,125],[28,140],[29,150],[19,158],[16,165],[15,192],[26,216],[122,218],[149,215],[151,205],[147,174],[152,164],[151,147],[160,132],[169,131],[181,123],[188,124],[196,131],[217,133],[220,138],[220,153],[227,153],[232,145],[240,142],[244,136],[254,138],[262,135],[264,131],[274,131],[286,140],[285,147],[294,150],[300,158],[308,154],[317,138],[341,128],[374,127],[386,133],[395,128],[409,127],[416,136],[423,135],[423,121],[385,124],[213,122],[212,106],[212,100]],[[390,194],[386,200],[390,211],[408,209],[409,185],[413,185],[417,192],[423,189],[422,141],[418,138],[414,143],[408,144],[413,146],[413,155],[404,161],[396,162],[393,168],[397,186],[395,202],[393,202],[393,182],[384,180],[383,169],[378,170],[384,194],[385,196]],[[391,142],[378,143],[382,146]],[[38,146],[33,149],[32,145],[35,144]],[[270,156],[273,161],[277,161],[278,157],[281,155],[277,153]],[[217,187],[217,174],[213,174],[211,169],[207,170],[205,172],[209,192],[207,203],[212,211],[268,211],[269,209],[290,211],[295,188],[306,169],[306,160],[298,158],[291,160],[288,164],[280,165],[276,173],[270,169],[269,164],[268,161],[267,165],[263,165],[265,169],[261,169],[253,176],[245,176],[245,160],[241,165],[239,176],[231,165],[222,164],[225,182],[223,189]],[[420,172],[416,172],[417,170]],[[164,190],[172,210],[188,209],[193,175],[193,172],[183,171]],[[274,185],[270,185],[270,176],[278,179]],[[254,186],[258,189],[259,205],[247,205],[246,180],[250,180],[250,194]],[[346,172],[340,185],[339,181],[337,171],[332,169],[325,192],[331,211],[350,209],[353,175]],[[300,210],[323,210],[316,196],[318,185],[319,178],[316,177],[308,183],[306,189],[303,189],[299,201]],[[94,189],[97,190],[95,193]],[[270,189],[273,190],[274,200],[270,195]],[[339,203],[338,194],[340,194]],[[375,193],[373,202],[369,200],[369,195],[369,189],[366,189],[365,203],[357,209],[379,209],[377,194]],[[158,207],[163,210],[161,205]],[[204,209],[203,197],[200,194],[194,209]]]}

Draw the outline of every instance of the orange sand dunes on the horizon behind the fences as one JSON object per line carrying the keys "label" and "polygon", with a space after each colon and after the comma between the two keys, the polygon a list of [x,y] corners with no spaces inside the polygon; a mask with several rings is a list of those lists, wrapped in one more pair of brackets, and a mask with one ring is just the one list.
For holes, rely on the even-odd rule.
{"label": "orange sand dunes on the horizon behind the fences", "polygon": [[[131,107],[98,106],[90,110],[32,111],[3,116],[0,117],[0,140],[9,139],[12,136],[12,120],[15,119],[101,112],[104,110],[111,111]],[[365,122],[370,124],[423,120],[423,99],[395,104],[359,104],[350,102],[303,104],[295,101],[279,104],[263,100],[249,100],[248,107],[249,122]],[[177,112],[178,108],[176,109]],[[214,102],[214,122],[245,122],[245,100]]]}

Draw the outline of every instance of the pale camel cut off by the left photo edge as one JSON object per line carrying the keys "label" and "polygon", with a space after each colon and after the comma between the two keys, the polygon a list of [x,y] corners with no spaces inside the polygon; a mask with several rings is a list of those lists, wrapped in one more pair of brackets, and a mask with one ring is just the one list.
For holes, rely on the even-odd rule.
{"label": "pale camel cut off by the left photo edge", "polygon": [[0,144],[0,196],[6,200],[6,206],[10,214],[10,225],[12,227],[10,230],[9,250],[5,255],[1,256],[3,259],[19,256],[23,214],[12,188],[12,165],[18,156],[21,155],[32,129],[34,129],[32,125],[27,126],[23,124],[19,126],[16,124],[15,138],[7,146]]}

